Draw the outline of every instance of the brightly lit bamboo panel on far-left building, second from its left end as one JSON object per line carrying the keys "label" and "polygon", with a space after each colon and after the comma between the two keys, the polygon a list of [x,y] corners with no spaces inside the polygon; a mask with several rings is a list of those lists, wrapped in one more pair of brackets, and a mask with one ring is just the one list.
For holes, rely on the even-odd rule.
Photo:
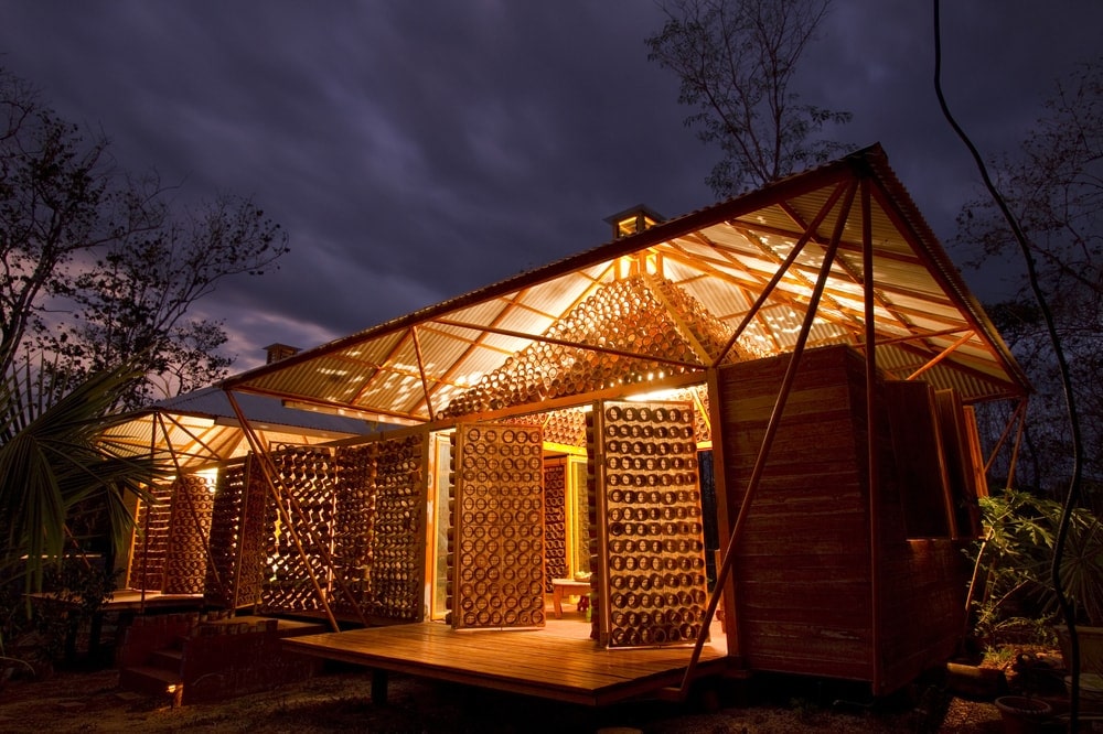
{"label": "brightly lit bamboo panel on far-left building, second from its left end", "polygon": [[182,476],[173,483],[169,553],[161,586],[165,594],[203,593],[214,512],[212,489],[207,479],[199,474]]}

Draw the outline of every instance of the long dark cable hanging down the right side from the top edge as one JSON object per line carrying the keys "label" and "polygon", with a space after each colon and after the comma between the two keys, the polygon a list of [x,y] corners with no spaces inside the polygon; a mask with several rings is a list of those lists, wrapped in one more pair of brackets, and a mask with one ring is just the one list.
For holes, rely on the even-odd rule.
{"label": "long dark cable hanging down the right side from the top edge", "polygon": [[1018,219],[1007,205],[1007,202],[1004,201],[1004,197],[1000,195],[995,184],[993,184],[992,179],[988,176],[988,169],[984,163],[984,159],[981,158],[981,153],[950,112],[950,107],[946,105],[946,99],[942,94],[942,31],[940,0],[934,0],[934,93],[938,95],[939,107],[942,109],[942,115],[946,118],[950,127],[953,128],[954,132],[957,133],[957,137],[961,138],[962,142],[973,155],[973,161],[976,163],[976,168],[981,172],[981,177],[984,180],[985,187],[992,195],[993,201],[995,201],[996,206],[999,207],[1000,213],[1004,215],[1004,219],[1007,222],[1008,227],[1011,229],[1011,234],[1015,236],[1015,241],[1019,247],[1019,251],[1022,253],[1024,261],[1026,262],[1030,291],[1034,294],[1035,301],[1038,303],[1038,309],[1041,311],[1042,317],[1045,319],[1046,331],[1049,334],[1050,343],[1053,347],[1053,355],[1057,357],[1057,363],[1061,373],[1061,388],[1064,391],[1064,404],[1068,411],[1069,428],[1072,433],[1072,476],[1069,479],[1069,488],[1061,509],[1061,521],[1058,526],[1057,539],[1053,542],[1053,562],[1050,566],[1050,578],[1053,584],[1053,592],[1057,594],[1058,606],[1060,606],[1061,615],[1064,617],[1064,623],[1069,628],[1069,639],[1072,647],[1072,670],[1070,671],[1072,673],[1072,683],[1070,686],[1069,697],[1069,731],[1074,732],[1077,731],[1080,710],[1080,640],[1077,637],[1077,615],[1061,584],[1061,557],[1064,554],[1064,543],[1069,535],[1069,523],[1072,518],[1072,509],[1075,507],[1080,498],[1081,476],[1083,474],[1083,440],[1080,432],[1080,418],[1077,413],[1077,400],[1072,391],[1072,374],[1069,369],[1069,363],[1064,355],[1064,348],[1061,345],[1061,335],[1058,333],[1057,324],[1053,320],[1053,312],[1050,310],[1049,301],[1046,298],[1046,293],[1042,291],[1034,255],[1030,252],[1030,242],[1027,239],[1026,234],[1024,234],[1022,228],[1019,226]]}

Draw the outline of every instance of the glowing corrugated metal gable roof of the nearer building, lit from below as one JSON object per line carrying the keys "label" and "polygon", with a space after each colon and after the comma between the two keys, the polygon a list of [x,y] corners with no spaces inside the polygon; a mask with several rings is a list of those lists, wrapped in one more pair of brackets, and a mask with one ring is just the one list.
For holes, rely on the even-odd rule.
{"label": "glowing corrugated metal gable roof of the nearer building, lit from below", "polygon": [[[860,347],[870,280],[865,272],[866,233],[875,330],[878,343],[886,343],[877,349],[879,366],[907,377],[936,360],[924,370],[923,379],[940,388],[956,388],[966,401],[1017,397],[1029,389],[877,145],[301,352],[232,378],[227,386],[420,422],[442,412],[454,415],[454,408],[448,411],[453,400],[488,388],[486,380],[501,381],[503,366],[515,355],[546,359],[539,352],[542,345],[553,345],[550,354],[564,360],[555,366],[557,374],[572,370],[568,390],[593,387],[585,380],[578,384],[583,361],[586,374],[600,374],[600,379],[610,371],[615,378],[618,369],[632,379],[641,379],[641,374],[670,375],[668,363],[654,360],[655,345],[640,344],[646,336],[624,328],[627,312],[609,309],[608,299],[602,301],[603,312],[587,311],[595,309],[597,296],[608,292],[603,289],[641,276],[650,283],[642,291],[645,296],[654,292],[667,309],[702,311],[671,314],[684,331],[692,331],[686,324],[695,320],[716,322],[730,336],[761,299],[761,310],[748,320],[738,339],[740,354],[747,358],[786,352],[800,333],[836,234],[837,255],[808,345]],[[799,246],[802,249],[792,265],[783,268]],[[772,290],[763,295],[771,281],[775,281]],[[682,295],[671,298],[677,293]],[[652,313],[635,307],[643,309],[639,314]],[[576,328],[575,322],[583,327]],[[686,335],[686,342],[693,345],[696,337]],[[600,370],[593,367],[595,360],[603,363]],[[674,361],[681,365],[673,368],[675,374],[695,368],[682,364],[682,358]],[[704,367],[699,364],[696,369]],[[546,375],[526,369],[508,388],[520,391],[514,400],[546,392]],[[561,388],[556,395],[563,395]]]}

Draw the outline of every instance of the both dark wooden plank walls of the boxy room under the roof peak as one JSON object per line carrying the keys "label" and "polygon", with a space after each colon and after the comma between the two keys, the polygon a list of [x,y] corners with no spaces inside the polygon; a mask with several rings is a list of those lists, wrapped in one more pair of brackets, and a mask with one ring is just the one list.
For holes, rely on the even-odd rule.
{"label": "both dark wooden plank walls of the boxy room under the roof peak", "polygon": [[[735,522],[789,357],[724,368],[718,380],[730,521]],[[925,392],[924,392],[925,395]],[[964,579],[950,522],[936,420],[917,428],[878,388],[879,569],[874,635],[865,363],[847,347],[804,355],[737,547],[736,620],[752,670],[868,681],[889,693],[944,662],[963,633]],[[903,402],[907,407],[907,402]],[[892,429],[897,429],[893,436]],[[903,432],[911,435],[901,441]],[[895,440],[893,440],[895,439]],[[923,451],[917,457],[912,450]],[[925,453],[924,453],[925,452]],[[917,482],[917,477],[920,481]],[[918,512],[906,492],[930,493]],[[922,499],[923,495],[919,495]],[[944,537],[909,539],[935,527]],[[730,531],[730,528],[728,528]],[[729,644],[730,646],[730,644]]]}

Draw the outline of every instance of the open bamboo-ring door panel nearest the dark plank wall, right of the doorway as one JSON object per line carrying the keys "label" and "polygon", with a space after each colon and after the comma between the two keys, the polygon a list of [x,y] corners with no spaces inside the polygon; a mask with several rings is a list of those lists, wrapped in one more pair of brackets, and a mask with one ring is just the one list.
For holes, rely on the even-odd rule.
{"label": "open bamboo-ring door panel nearest the dark plank wall, right of the doorway", "polygon": [[601,602],[595,634],[609,647],[686,644],[707,602],[692,403],[599,402],[590,476]]}

